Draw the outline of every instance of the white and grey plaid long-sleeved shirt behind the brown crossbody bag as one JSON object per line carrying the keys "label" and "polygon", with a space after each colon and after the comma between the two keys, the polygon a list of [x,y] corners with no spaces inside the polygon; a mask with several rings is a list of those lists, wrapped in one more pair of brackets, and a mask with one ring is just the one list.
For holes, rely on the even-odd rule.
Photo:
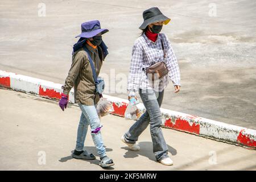
{"label": "white and grey plaid long-sleeved shirt behind the brown crossbody bag", "polygon": [[[163,41],[164,50],[166,52],[166,59],[164,59],[164,52],[162,49]],[[168,75],[158,80],[152,81],[147,77],[144,69],[150,67],[152,64],[164,61],[168,68]],[[171,43],[165,34],[158,34],[156,42],[152,42],[145,34],[135,40],[130,64],[130,72],[127,83],[127,90],[131,93],[137,92],[141,89],[154,89],[157,92],[162,92],[169,83],[170,78],[174,85],[180,85],[180,70],[177,64],[177,59]]]}

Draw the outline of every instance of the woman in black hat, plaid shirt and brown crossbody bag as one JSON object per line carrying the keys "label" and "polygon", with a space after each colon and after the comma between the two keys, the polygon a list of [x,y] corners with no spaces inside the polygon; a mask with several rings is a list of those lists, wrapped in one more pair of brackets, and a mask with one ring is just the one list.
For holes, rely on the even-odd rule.
{"label": "woman in black hat, plaid shirt and brown crossbody bag", "polygon": [[[170,41],[165,34],[159,32],[163,24],[167,24],[171,19],[164,16],[157,7],[145,10],[143,19],[144,22],[139,27],[142,35],[135,40],[133,46],[127,90],[129,100],[137,99],[135,92],[139,92],[146,112],[121,139],[130,150],[138,151],[140,149],[136,144],[138,137],[150,124],[156,160],[170,166],[173,162],[168,156],[168,147],[160,128],[162,125],[160,106],[163,101],[164,88],[169,80],[174,84],[175,93],[179,92],[180,71]],[[161,69],[156,65],[161,65]],[[157,74],[152,77],[150,70]]]}

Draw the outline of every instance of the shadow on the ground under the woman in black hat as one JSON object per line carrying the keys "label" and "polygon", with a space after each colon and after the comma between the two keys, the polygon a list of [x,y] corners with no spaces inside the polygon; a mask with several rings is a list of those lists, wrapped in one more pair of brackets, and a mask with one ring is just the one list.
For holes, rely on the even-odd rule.
{"label": "shadow on the ground under the woman in black hat", "polygon": [[[153,153],[152,142],[139,142],[138,145],[139,145],[139,147],[141,147],[141,149],[139,151],[131,151],[131,150],[129,150],[128,147],[121,147],[122,149],[127,150],[127,152],[125,152],[125,155],[123,155],[123,156],[125,158],[136,158],[139,155],[142,155],[142,156],[146,156],[150,160],[156,161],[155,155]],[[168,147],[168,152],[170,152],[171,155],[177,154],[177,151],[175,148],[169,146],[168,144],[167,144],[167,147]]]}

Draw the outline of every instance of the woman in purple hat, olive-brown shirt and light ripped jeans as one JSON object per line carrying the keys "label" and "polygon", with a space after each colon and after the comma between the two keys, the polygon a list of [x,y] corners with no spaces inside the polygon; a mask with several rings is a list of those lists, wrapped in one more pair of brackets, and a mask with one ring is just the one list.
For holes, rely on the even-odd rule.
{"label": "woman in purple hat, olive-brown shirt and light ripped jeans", "polygon": [[[100,27],[98,20],[92,20],[81,24],[82,33],[79,41],[73,46],[72,64],[68,76],[63,86],[63,93],[59,105],[64,111],[68,105],[68,94],[74,86],[75,103],[82,111],[79,127],[77,130],[76,148],[72,156],[76,159],[93,160],[96,157],[84,150],[84,142],[88,126],[90,125],[90,134],[96,146],[98,155],[100,155],[100,166],[113,166],[113,160],[106,155],[106,149],[101,135],[101,123],[98,117],[96,106],[100,96],[96,93],[96,83],[94,75],[99,75],[102,61],[108,55],[107,47],[102,42],[102,34],[108,32],[107,29]],[[92,61],[92,62],[90,62]],[[92,67],[94,66],[94,71]],[[95,74],[96,73],[96,74]]]}

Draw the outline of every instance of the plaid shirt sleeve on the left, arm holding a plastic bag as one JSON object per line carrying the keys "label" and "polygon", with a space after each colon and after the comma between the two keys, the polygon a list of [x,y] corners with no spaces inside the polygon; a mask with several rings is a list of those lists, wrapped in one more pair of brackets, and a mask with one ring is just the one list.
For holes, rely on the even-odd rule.
{"label": "plaid shirt sleeve on the left, arm holding a plastic bag", "polygon": [[142,74],[142,46],[135,42],[131,56],[130,71],[127,82],[127,90],[130,93],[137,92]]}

